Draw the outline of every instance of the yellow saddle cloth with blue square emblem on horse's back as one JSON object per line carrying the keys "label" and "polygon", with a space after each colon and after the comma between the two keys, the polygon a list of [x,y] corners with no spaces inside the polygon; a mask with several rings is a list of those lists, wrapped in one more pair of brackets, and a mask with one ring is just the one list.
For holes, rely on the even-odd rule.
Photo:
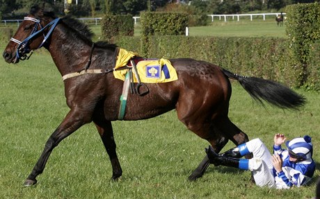
{"label": "yellow saddle cloth with blue square emblem on horse's back", "polygon": [[[127,66],[129,60],[137,55],[137,53],[119,49],[114,69],[120,69],[121,67]],[[168,83],[178,79],[177,72],[169,60],[141,60],[136,64],[136,68],[141,83]],[[124,81],[128,71],[129,69],[114,70],[113,76]],[[134,83],[138,83],[136,74],[134,74]]]}

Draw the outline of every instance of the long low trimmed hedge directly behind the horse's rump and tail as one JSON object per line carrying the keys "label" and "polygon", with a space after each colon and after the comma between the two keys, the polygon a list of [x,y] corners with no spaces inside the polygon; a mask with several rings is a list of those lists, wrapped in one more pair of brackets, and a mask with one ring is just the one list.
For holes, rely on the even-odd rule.
{"label": "long low trimmed hedge directly behind the horse's rump and tail", "polygon": [[[150,54],[165,58],[194,58],[246,76],[277,79],[275,70],[285,55],[285,40],[245,37],[154,37]],[[176,46],[168,48],[168,46]]]}

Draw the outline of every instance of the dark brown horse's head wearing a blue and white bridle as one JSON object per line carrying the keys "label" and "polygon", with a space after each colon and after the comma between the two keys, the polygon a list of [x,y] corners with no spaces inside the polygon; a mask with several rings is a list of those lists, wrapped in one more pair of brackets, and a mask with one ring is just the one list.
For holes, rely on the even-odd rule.
{"label": "dark brown horse's head wearing a blue and white bridle", "polygon": [[58,21],[59,18],[56,19],[52,12],[45,12],[42,8],[33,6],[6,46],[3,58],[6,62],[14,64],[19,60],[28,59],[32,50],[39,49],[47,42]]}

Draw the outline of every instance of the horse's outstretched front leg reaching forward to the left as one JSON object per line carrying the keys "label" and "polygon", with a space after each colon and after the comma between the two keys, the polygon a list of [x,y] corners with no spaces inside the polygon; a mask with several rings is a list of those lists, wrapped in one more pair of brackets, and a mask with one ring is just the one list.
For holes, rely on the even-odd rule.
{"label": "horse's outstretched front leg reaching forward to the left", "polygon": [[45,144],[45,149],[42,151],[38,162],[33,167],[31,174],[28,176],[28,178],[26,178],[24,186],[31,186],[37,183],[35,178],[45,169],[45,164],[47,163],[51,151],[58,146],[60,141],[65,139],[65,137],[71,135],[72,132],[83,126],[83,124],[89,123],[90,117],[88,116],[86,118],[86,116],[88,116],[88,112],[85,113],[70,110],[61,125],[58,126],[54,133],[52,133],[52,135],[49,137],[47,143]]}

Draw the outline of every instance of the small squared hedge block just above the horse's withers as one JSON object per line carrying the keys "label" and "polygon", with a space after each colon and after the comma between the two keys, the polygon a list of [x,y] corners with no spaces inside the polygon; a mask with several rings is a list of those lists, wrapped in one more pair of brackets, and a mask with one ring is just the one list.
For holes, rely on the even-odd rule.
{"label": "small squared hedge block just above the horse's withers", "polygon": [[104,15],[101,21],[104,40],[112,42],[116,36],[133,36],[134,19],[132,15]]}

